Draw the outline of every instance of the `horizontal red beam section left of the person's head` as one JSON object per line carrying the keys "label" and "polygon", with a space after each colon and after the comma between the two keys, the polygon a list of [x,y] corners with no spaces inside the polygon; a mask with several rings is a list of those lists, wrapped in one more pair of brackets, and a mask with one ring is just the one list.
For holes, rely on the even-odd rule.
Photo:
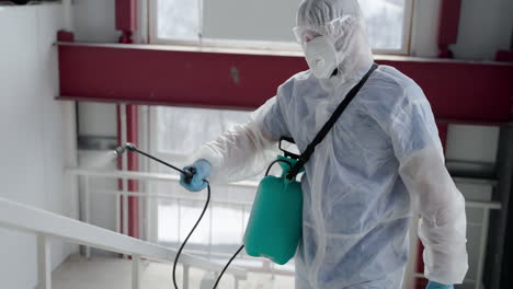
{"label": "horizontal red beam section left of the person's head", "polygon": [[59,46],[61,95],[251,109],[307,68],[298,57]]}

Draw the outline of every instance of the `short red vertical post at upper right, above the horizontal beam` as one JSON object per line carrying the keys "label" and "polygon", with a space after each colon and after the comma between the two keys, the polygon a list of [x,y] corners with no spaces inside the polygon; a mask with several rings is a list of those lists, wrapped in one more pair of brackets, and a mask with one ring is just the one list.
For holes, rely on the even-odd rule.
{"label": "short red vertical post at upper right, above the horizontal beam", "polygon": [[448,46],[458,39],[461,0],[441,0],[438,19],[438,57],[453,58]]}

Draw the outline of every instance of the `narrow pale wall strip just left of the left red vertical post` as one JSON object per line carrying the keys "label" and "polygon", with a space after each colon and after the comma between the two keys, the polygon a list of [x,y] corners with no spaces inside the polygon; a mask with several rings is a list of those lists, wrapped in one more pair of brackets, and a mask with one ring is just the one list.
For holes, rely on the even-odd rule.
{"label": "narrow pale wall strip just left of the left red vertical post", "polygon": [[[115,30],[115,0],[75,0],[73,26],[76,41],[96,43],[117,43],[121,35]],[[78,104],[78,134],[79,136],[116,137],[117,136],[116,105],[106,103]],[[115,170],[114,162],[105,162],[102,151],[79,151],[79,165],[92,169]],[[84,192],[83,180],[80,181],[80,192]],[[115,180],[92,178],[90,188],[115,190]],[[114,231],[115,199],[105,195],[91,196],[91,223]],[[106,252],[93,250],[93,254]]]}

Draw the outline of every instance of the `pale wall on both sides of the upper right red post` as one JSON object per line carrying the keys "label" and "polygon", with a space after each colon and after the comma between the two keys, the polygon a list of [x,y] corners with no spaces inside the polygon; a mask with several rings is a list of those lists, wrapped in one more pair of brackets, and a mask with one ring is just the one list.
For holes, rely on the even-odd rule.
{"label": "pale wall on both sides of the upper right red post", "polygon": [[[436,57],[440,0],[415,1],[412,55]],[[457,59],[493,60],[509,50],[513,32],[513,0],[461,1],[458,38],[449,48]]]}

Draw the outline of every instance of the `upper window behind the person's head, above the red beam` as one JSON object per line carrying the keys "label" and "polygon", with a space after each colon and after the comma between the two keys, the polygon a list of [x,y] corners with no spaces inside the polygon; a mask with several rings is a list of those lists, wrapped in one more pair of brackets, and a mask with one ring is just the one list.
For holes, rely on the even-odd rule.
{"label": "upper window behind the person's head, above the red beam", "polygon": [[[358,0],[375,53],[408,53],[412,1]],[[151,43],[299,49],[292,33],[299,2],[150,1]]]}

